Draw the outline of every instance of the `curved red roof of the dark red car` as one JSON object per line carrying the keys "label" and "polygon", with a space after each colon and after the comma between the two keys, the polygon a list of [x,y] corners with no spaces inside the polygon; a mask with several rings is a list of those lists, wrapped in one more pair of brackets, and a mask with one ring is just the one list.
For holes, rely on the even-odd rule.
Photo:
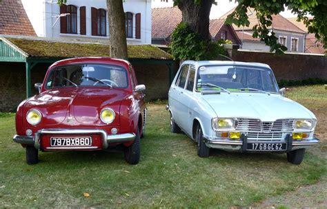
{"label": "curved red roof of the dark red car", "polygon": [[128,68],[128,66],[130,65],[130,63],[124,59],[113,59],[110,57],[75,57],[56,61],[50,66],[50,68],[53,68],[55,66],[63,66],[77,63],[111,63],[126,66],[126,68]]}

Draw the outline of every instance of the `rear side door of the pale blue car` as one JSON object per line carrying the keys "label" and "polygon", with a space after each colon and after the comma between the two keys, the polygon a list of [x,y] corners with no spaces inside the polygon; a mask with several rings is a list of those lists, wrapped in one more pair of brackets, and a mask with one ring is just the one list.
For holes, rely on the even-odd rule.
{"label": "rear side door of the pale blue car", "polygon": [[[169,92],[169,106],[170,111],[172,112],[172,117],[175,120],[175,123],[179,125],[180,128],[183,127],[182,123],[185,117],[187,108],[186,103],[184,103],[183,94],[184,94],[184,88],[186,86],[186,79],[188,77],[188,68],[190,68],[190,65],[186,64],[184,66],[181,66],[181,70],[179,72],[179,75],[177,77],[176,82],[172,85]],[[185,110],[186,109],[186,110]]]}

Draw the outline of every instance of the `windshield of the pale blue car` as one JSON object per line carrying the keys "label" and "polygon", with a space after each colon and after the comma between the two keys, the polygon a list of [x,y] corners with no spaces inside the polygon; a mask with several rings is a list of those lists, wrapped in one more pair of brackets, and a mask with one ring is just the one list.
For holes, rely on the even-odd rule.
{"label": "windshield of the pale blue car", "polygon": [[208,90],[278,92],[272,70],[252,66],[201,66],[197,91]]}

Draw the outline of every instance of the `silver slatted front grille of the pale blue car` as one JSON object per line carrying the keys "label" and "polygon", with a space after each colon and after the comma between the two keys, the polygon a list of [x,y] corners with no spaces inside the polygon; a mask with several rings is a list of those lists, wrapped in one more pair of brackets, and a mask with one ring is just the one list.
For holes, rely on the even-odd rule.
{"label": "silver slatted front grille of the pale blue car", "polygon": [[259,119],[237,119],[237,131],[240,132],[292,132],[293,119],[279,119],[273,122]]}

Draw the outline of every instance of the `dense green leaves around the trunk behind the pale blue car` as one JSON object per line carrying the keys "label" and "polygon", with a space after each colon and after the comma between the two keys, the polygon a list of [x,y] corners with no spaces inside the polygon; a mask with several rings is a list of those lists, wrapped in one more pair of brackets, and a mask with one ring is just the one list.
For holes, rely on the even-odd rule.
{"label": "dense green leaves around the trunk behind the pale blue car", "polygon": [[172,32],[170,50],[175,59],[210,60],[224,54],[224,47],[219,42],[207,41],[200,34],[193,32],[188,23],[181,22]]}

